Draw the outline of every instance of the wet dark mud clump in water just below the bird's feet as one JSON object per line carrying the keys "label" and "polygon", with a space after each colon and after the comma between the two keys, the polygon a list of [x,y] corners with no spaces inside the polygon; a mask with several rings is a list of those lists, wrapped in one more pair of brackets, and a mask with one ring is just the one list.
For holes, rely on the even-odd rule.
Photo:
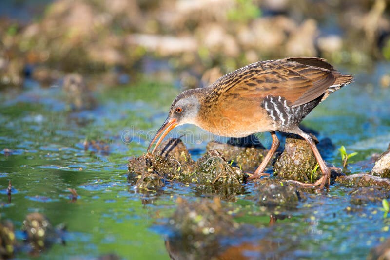
{"label": "wet dark mud clump in water just below the bird's feet", "polygon": [[293,208],[300,200],[305,199],[301,189],[287,182],[260,179],[256,185],[256,200],[261,206]]}

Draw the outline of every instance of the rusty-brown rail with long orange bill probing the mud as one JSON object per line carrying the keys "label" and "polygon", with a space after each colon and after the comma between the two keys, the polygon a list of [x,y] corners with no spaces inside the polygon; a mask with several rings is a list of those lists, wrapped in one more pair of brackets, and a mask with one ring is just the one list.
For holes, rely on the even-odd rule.
{"label": "rusty-brown rail with long orange bill probing the mud", "polygon": [[280,145],[276,132],[292,133],[309,143],[322,172],[313,184],[292,182],[323,189],[326,183],[330,184],[330,169],[312,136],[302,131],[299,124],[331,93],[353,80],[352,75],[341,74],[326,59],[318,57],[287,57],[249,64],[220,77],[208,87],[178,94],[147,152],[150,153],[159,137],[153,154],[168,132],[183,124],[194,124],[226,137],[270,132],[271,148],[249,177],[258,179],[269,175],[264,170]]}

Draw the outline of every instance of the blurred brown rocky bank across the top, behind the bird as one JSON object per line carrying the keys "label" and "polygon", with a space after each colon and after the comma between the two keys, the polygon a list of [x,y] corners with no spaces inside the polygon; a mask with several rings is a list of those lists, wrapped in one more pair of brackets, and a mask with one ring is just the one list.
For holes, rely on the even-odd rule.
{"label": "blurred brown rocky bank across the top, behind the bird", "polygon": [[370,71],[390,59],[389,11],[387,0],[2,0],[0,85],[80,72],[192,88],[286,56]]}

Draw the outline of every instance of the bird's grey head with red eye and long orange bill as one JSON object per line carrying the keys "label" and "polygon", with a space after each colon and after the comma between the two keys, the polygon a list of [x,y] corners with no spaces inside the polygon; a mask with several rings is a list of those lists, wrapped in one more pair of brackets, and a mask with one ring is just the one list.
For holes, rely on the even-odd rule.
{"label": "bird's grey head with red eye and long orange bill", "polygon": [[196,117],[200,109],[199,92],[201,89],[186,90],[176,96],[174,102],[172,102],[171,108],[168,113],[168,117],[157,131],[155,137],[149,144],[148,152],[156,139],[158,139],[152,154],[156,151],[157,147],[164,139],[164,137],[176,126],[183,124],[195,124]]}

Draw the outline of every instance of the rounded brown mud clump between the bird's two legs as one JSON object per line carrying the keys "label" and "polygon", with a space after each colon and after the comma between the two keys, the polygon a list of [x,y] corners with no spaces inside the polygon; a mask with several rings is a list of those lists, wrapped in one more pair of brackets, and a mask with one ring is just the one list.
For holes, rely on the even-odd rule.
{"label": "rounded brown mud clump between the bird's two legs", "polygon": [[273,166],[273,174],[289,180],[314,182],[321,176],[321,170],[315,169],[316,165],[309,143],[296,135],[288,135],[285,149]]}

